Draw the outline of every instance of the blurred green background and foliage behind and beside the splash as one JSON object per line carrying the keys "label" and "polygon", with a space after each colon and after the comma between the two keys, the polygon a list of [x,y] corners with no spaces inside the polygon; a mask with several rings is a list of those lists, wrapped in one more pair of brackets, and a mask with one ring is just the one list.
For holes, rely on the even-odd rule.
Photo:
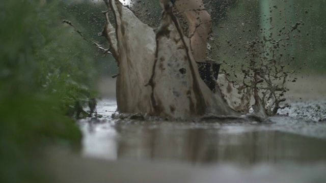
{"label": "blurred green background and foliage behind and beside the splash", "polygon": [[[248,64],[248,44],[264,37],[285,38],[273,55],[292,73],[288,98],[325,99],[324,0],[204,0],[204,4],[213,19],[209,56],[223,64],[222,72],[241,78],[241,65]],[[79,117],[80,107],[92,98],[115,98],[111,78],[117,74],[115,60],[92,45],[109,46],[97,36],[104,25],[101,11],[106,10],[98,0],[0,3],[0,182],[46,180],[37,161],[40,149],[53,144],[78,151],[82,133],[73,117]],[[137,1],[132,10],[158,26],[158,1]],[[178,17],[187,33],[185,21]],[[269,52],[268,46],[260,51]]]}

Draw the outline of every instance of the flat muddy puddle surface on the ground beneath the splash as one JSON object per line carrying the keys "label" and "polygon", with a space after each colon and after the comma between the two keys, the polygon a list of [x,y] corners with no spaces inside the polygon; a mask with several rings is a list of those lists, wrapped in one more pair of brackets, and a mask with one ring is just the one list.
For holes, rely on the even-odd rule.
{"label": "flat muddy puddle surface on the ground beneath the splash", "polygon": [[[82,155],[107,166],[119,165],[105,169],[115,172],[118,180],[128,181],[123,169],[140,167],[142,172],[131,173],[132,182],[324,182],[326,122],[321,113],[325,105],[320,103],[290,102],[291,109],[279,112],[288,116],[269,117],[262,123],[222,123],[117,120],[111,118],[116,102],[102,100],[97,109],[102,118],[78,121],[84,135]],[[310,110],[309,116],[299,116],[298,110]],[[162,175],[166,179],[158,181]]]}

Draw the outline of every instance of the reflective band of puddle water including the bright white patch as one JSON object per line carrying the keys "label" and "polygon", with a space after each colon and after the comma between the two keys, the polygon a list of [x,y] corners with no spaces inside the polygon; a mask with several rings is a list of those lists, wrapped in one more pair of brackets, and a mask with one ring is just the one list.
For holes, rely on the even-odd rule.
{"label": "reflective band of puddle water including the bright white patch", "polygon": [[[110,107],[113,110],[107,110]],[[101,110],[109,114],[114,112],[114,108],[115,104],[110,103]],[[287,120],[291,126],[298,127],[290,118],[274,120]],[[311,128],[311,125],[305,127],[304,121],[301,124],[299,129],[303,132],[307,131],[305,128]],[[239,165],[326,160],[325,140],[288,133],[291,129],[281,132],[274,128],[280,125],[111,119],[80,121],[84,133],[83,153],[97,158]]]}

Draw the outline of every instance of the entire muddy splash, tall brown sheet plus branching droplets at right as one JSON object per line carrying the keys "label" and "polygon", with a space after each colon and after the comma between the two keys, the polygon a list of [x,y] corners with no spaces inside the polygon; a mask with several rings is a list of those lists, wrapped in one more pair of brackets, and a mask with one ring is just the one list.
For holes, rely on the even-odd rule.
{"label": "entire muddy splash, tall brown sheet plus branching droplets at right", "polygon": [[[274,54],[283,39],[275,41],[270,36],[244,45],[249,64],[241,67],[243,84],[230,81],[222,70],[225,74],[219,75],[216,92],[212,93],[199,76],[189,39],[169,2],[165,3],[158,28],[143,23],[119,1],[105,3],[114,14],[115,26],[105,12],[101,35],[110,42],[119,67],[116,85],[120,113],[192,118],[208,114],[240,116],[252,108],[255,115],[266,117],[275,114],[285,100],[280,97],[286,92],[287,73],[277,66],[280,63]],[[260,47],[266,45],[269,57],[260,54]],[[271,77],[282,77],[283,86],[273,84]]]}

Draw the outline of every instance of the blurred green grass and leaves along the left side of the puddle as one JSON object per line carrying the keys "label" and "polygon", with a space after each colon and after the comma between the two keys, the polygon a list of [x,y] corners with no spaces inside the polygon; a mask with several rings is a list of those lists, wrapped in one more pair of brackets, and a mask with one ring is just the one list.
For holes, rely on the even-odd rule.
{"label": "blurred green grass and leaves along the left side of the puddle", "polygon": [[0,3],[0,182],[49,181],[37,157],[80,145],[71,111],[96,95],[95,48],[61,23],[61,2],[42,2]]}

